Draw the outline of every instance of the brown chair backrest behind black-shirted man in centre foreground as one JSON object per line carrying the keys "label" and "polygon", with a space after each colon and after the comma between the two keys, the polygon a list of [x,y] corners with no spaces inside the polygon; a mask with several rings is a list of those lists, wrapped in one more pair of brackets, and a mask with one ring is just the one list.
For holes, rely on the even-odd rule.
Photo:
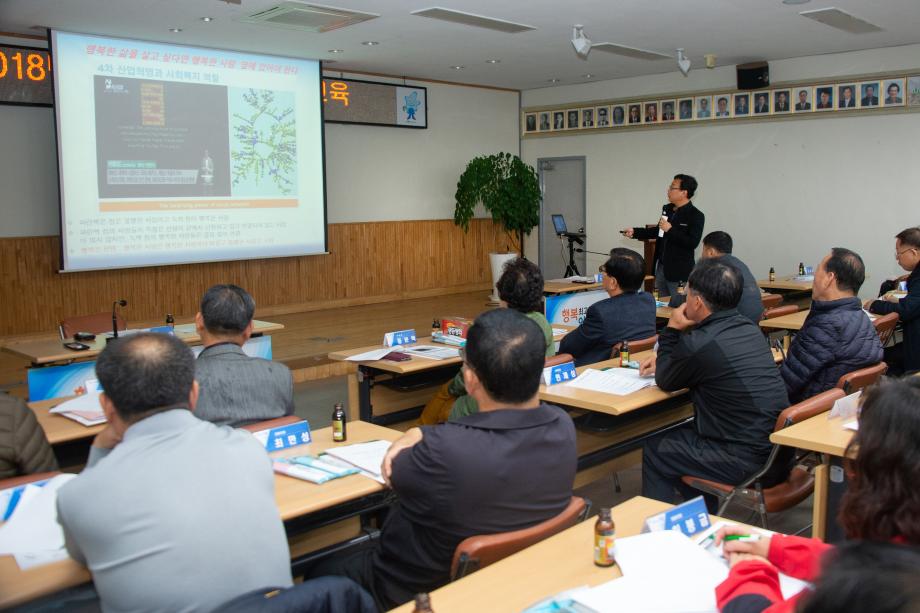
{"label": "brown chair backrest behind black-shirted man in centre foreground", "polygon": [[474,570],[498,562],[562,532],[579,521],[585,508],[584,498],[572,496],[572,500],[562,513],[536,526],[513,532],[483,534],[464,539],[454,550],[454,559],[450,567],[451,579],[459,579]]}

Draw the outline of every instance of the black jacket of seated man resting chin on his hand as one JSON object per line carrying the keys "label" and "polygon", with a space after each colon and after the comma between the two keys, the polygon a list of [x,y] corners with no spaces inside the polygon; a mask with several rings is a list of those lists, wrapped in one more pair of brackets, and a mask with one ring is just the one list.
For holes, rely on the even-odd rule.
{"label": "black jacket of seated man resting chin on his hand", "polygon": [[743,443],[764,458],[776,418],[789,406],[763,333],[736,309],[713,313],[689,332],[662,330],[655,382],[666,392],[690,388],[700,436]]}

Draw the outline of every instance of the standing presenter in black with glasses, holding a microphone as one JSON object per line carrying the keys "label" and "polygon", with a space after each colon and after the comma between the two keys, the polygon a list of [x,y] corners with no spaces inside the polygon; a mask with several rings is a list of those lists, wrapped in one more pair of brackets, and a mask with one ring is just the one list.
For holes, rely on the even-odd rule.
{"label": "standing presenter in black with glasses, holding a microphone", "polygon": [[655,241],[655,287],[662,296],[676,296],[677,288],[686,283],[693,270],[693,251],[703,237],[706,216],[693,206],[696,179],[674,175],[668,187],[668,202],[661,207],[657,228],[626,228],[627,238]]}

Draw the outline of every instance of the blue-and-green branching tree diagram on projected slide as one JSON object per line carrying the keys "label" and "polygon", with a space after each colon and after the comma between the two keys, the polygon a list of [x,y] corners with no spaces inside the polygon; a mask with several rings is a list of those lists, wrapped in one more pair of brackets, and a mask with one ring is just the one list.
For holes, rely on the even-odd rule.
{"label": "blue-and-green branching tree diagram on projected slide", "polygon": [[275,93],[267,89],[250,89],[243,101],[251,112],[233,115],[239,143],[231,153],[233,186],[271,180],[281,193],[290,194],[294,184],[290,175],[297,165],[294,108],[278,108]]}

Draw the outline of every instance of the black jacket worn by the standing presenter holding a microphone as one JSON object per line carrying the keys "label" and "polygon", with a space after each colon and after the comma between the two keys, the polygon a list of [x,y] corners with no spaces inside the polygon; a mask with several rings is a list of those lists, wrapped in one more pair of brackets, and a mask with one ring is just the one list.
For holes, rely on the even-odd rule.
{"label": "black jacket worn by the standing presenter holding a microphone", "polygon": [[677,283],[690,278],[693,270],[693,251],[703,238],[703,224],[706,216],[703,212],[688,202],[677,208],[670,202],[665,205],[665,214],[671,223],[671,229],[658,238],[658,228],[633,228],[633,238],[639,240],[655,240],[655,262],[652,270],[661,261],[664,266],[664,276],[668,281]]}

